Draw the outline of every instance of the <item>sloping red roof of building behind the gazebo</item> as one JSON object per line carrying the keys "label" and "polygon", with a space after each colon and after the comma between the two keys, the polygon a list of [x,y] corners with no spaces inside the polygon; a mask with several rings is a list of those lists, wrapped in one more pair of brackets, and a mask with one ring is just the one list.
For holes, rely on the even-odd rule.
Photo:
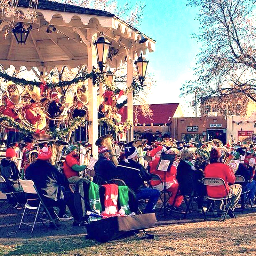
{"label": "sloping red roof of building behind the gazebo", "polygon": [[[153,112],[152,120],[142,116],[139,111],[138,121],[140,124],[169,124],[179,104],[180,103],[152,104],[150,105],[150,109]],[[119,110],[119,114],[122,115],[122,122],[125,122],[127,119],[127,106],[124,107],[123,113],[122,110]],[[133,118],[135,120],[135,116],[133,116]]]}

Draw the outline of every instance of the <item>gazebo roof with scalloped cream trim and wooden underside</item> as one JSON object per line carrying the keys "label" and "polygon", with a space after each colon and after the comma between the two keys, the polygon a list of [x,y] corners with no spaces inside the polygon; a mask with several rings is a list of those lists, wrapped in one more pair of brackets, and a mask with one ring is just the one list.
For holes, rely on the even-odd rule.
{"label": "gazebo roof with scalloped cream trim and wooden underside", "polygon": [[[37,21],[33,22],[28,19],[28,5],[29,1],[19,1],[18,10],[24,14],[23,19],[11,15],[0,18],[0,64],[4,68],[14,65],[16,69],[26,66],[49,71],[55,66],[72,68],[87,64],[87,45],[92,44],[92,38],[88,36],[90,28],[94,28],[98,35],[103,32],[112,42],[109,58],[112,68],[126,61],[128,48],[132,49],[133,59],[140,52],[145,54],[147,50],[155,50],[156,41],[143,34],[148,40],[139,44],[141,32],[109,12],[40,0],[36,9]],[[4,27],[10,26],[12,20],[33,26],[25,45],[17,44],[12,33],[4,39]],[[56,31],[47,33],[49,25],[53,25]]]}

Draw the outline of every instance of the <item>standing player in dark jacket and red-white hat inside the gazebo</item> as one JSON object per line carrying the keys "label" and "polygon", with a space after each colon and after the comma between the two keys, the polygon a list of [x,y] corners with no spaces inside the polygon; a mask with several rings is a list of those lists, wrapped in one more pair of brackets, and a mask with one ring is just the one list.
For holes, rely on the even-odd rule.
{"label": "standing player in dark jacket and red-white hat inside the gazebo", "polygon": [[[62,105],[60,103],[60,97],[61,95],[59,92],[52,92],[52,102],[49,104],[49,108],[48,108],[48,112],[52,118],[58,117],[62,113],[62,110],[61,110]],[[61,126],[60,120],[58,121],[50,120],[49,122],[49,127],[52,132],[54,131],[59,132],[60,126]]]}

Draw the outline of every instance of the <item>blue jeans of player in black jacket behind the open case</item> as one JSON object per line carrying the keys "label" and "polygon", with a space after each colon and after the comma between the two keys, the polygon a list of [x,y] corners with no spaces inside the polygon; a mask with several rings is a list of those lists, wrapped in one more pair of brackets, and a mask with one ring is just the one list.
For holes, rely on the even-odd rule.
{"label": "blue jeans of player in black jacket behind the open case", "polygon": [[152,213],[156,208],[156,203],[159,198],[159,191],[154,188],[140,188],[136,192],[138,200],[149,199],[144,213]]}

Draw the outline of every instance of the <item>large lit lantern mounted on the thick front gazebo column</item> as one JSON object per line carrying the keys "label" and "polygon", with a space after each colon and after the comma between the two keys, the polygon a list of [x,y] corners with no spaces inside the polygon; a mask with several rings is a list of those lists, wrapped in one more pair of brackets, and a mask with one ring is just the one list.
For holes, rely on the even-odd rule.
{"label": "large lit lantern mounted on the thick front gazebo column", "polygon": [[98,40],[94,43],[94,45],[97,52],[98,65],[99,65],[100,71],[102,72],[103,69],[106,67],[109,47],[111,43],[108,41],[107,38],[103,36],[103,33],[102,33],[102,35],[98,38]]}

